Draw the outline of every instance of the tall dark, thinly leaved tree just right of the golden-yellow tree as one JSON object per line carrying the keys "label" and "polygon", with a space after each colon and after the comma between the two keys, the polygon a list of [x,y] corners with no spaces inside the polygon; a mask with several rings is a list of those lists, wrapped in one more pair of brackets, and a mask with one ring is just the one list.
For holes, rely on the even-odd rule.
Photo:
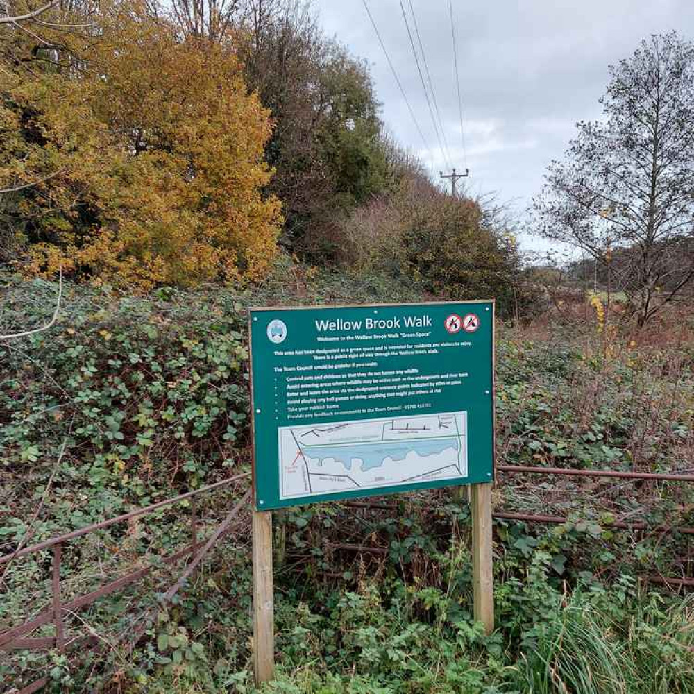
{"label": "tall dark, thinly leaved tree just right of the golden-yellow tree", "polygon": [[[364,62],[321,33],[307,0],[149,0],[149,7],[180,36],[238,53],[275,126],[265,155],[275,169],[268,190],[285,217],[280,243],[310,262],[337,262],[340,219],[397,178]],[[212,31],[219,22],[211,18],[222,16],[226,30]]]}

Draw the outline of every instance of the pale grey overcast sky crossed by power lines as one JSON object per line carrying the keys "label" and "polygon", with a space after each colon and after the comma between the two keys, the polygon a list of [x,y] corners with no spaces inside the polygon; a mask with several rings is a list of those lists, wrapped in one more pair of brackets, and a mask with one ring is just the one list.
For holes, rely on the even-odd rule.
{"label": "pale grey overcast sky crossed by power lines", "polygon": [[[314,0],[321,24],[371,65],[383,118],[398,141],[438,176],[444,162],[399,0],[367,0],[419,121],[421,142],[362,0]],[[403,0],[409,9],[408,0]],[[412,0],[452,165],[466,162],[460,136],[448,0]],[[651,33],[694,39],[693,0],[454,0],[468,180],[525,208],[545,167],[560,158],[575,122],[600,115],[607,66]],[[416,35],[415,35],[416,42]],[[532,237],[524,248],[543,248]]]}

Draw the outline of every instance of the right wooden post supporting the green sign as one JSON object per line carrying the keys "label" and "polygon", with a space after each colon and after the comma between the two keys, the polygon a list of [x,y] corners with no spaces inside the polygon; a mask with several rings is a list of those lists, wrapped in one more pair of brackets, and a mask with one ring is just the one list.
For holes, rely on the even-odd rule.
{"label": "right wooden post supporting the green sign", "polygon": [[484,632],[494,630],[494,574],[491,537],[491,482],[472,485],[473,609]]}

